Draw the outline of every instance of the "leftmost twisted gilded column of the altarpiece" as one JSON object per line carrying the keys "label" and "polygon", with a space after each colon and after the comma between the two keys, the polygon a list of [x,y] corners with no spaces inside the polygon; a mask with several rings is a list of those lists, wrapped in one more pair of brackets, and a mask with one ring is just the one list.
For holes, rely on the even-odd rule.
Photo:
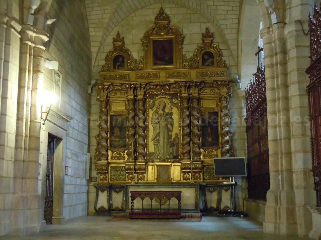
{"label": "leftmost twisted gilded column of the altarpiece", "polygon": [[96,135],[97,147],[96,147],[96,161],[107,161],[108,158],[108,118],[106,109],[106,99],[99,100],[99,118],[97,127],[99,128],[99,133]]}

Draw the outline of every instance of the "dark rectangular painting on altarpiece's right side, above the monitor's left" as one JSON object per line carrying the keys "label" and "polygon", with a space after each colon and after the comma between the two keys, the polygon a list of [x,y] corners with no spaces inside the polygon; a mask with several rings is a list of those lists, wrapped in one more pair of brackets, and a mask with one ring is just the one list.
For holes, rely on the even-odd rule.
{"label": "dark rectangular painting on altarpiece's right side, above the monitor's left", "polygon": [[203,112],[201,116],[202,147],[219,146],[218,112]]}

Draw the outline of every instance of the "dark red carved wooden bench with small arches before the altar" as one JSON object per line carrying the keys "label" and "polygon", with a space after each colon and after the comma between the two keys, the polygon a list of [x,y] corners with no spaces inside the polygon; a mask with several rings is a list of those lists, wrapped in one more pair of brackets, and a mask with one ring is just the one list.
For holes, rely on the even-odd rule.
{"label": "dark red carved wooden bench with small arches before the altar", "polygon": [[[181,218],[181,195],[182,191],[130,191],[131,199],[131,212],[129,213],[130,219],[180,219]],[[151,209],[149,212],[144,212],[144,199],[149,198],[151,200]],[[170,212],[170,199],[175,197],[178,200],[178,212]],[[142,199],[142,211],[134,212],[134,200],[136,198]],[[152,211],[152,201],[154,198],[158,198],[160,201],[160,207],[157,212]],[[161,212],[161,200],[166,198],[168,200],[168,211]]]}

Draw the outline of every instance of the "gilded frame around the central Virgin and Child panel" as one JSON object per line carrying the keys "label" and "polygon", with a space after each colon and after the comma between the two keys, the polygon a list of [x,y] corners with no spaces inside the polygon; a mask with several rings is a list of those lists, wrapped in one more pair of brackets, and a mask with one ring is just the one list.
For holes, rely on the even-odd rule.
{"label": "gilded frame around the central Virgin and Child panel", "polygon": [[179,90],[172,90],[172,91],[167,91],[167,92],[147,92],[146,93],[146,104],[145,104],[145,109],[146,109],[146,161],[147,162],[180,162],[182,157],[181,157],[181,144],[182,144],[182,136],[181,136],[181,124],[178,124],[178,159],[150,159],[149,158],[149,144],[152,144],[149,142],[149,119],[151,116],[149,116],[149,97],[151,94],[158,94],[158,95],[167,95],[169,93],[174,93],[178,94],[178,123],[181,123],[181,94]]}

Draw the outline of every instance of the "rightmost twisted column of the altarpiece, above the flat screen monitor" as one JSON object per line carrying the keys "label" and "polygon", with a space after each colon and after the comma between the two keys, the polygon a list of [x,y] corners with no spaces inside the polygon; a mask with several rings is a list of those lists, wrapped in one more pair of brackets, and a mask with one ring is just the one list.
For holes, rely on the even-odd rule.
{"label": "rightmost twisted column of the altarpiece, above the flat screen monitor", "polygon": [[230,156],[230,119],[228,109],[228,97],[221,98],[221,156]]}

